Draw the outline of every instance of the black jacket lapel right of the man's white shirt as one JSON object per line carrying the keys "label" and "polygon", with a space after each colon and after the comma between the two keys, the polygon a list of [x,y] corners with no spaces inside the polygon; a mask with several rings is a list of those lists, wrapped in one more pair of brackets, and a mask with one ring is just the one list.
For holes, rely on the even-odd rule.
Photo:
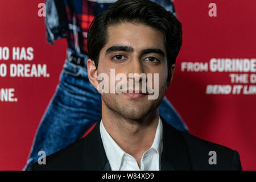
{"label": "black jacket lapel right of the man's white shirt", "polygon": [[161,171],[191,170],[189,154],[180,132],[168,124],[163,117],[163,151],[161,156]]}

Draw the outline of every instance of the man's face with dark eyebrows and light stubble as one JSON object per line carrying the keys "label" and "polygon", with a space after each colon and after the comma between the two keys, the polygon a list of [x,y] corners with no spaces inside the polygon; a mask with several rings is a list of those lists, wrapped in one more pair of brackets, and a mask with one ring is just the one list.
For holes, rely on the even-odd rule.
{"label": "man's face with dark eyebrows and light stubble", "polygon": [[[167,80],[167,54],[162,32],[138,23],[110,26],[107,32],[107,43],[100,51],[97,68],[97,75],[105,73],[109,77],[109,93],[101,94],[102,106],[128,119],[141,119],[158,108],[171,82],[171,79]],[[135,82],[134,78],[129,77],[129,73],[138,73],[138,75],[145,73],[146,76],[147,73],[151,73],[153,89],[155,89],[154,74],[158,73],[159,79],[156,80],[159,85],[158,98],[149,100],[148,94],[110,93],[110,79],[114,79],[110,76],[110,69],[114,69],[115,76],[124,73],[127,84],[129,80]],[[170,73],[172,74],[172,71]],[[97,88],[99,82],[95,80],[91,82]],[[114,81],[115,85],[118,82],[120,80]],[[141,88],[142,80],[139,82]],[[130,89],[128,88],[127,85],[127,92]]]}

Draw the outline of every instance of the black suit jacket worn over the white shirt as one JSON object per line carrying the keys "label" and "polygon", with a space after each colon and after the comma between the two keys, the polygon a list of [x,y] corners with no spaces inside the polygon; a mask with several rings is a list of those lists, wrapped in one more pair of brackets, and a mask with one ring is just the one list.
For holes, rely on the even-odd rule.
{"label": "black suit jacket worn over the white shirt", "polygon": [[[163,121],[163,151],[160,170],[242,170],[237,151],[176,130]],[[85,138],[37,162],[31,170],[108,170],[110,165],[100,135],[100,121]],[[209,164],[209,151],[215,151],[217,164]]]}

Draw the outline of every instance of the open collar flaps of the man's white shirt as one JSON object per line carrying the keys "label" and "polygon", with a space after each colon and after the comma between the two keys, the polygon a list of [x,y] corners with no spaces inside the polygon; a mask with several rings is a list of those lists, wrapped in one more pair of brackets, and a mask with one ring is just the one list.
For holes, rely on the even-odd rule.
{"label": "open collar flaps of the man's white shirt", "polygon": [[[103,125],[102,119],[100,122],[100,134],[101,134],[104,150],[106,152],[106,156],[109,160],[109,164],[113,171],[118,171],[121,167],[123,155],[129,155],[129,154],[123,151],[122,148],[120,148],[118,144],[113,140],[113,138],[109,135],[108,131],[106,131]],[[148,150],[150,151],[152,150],[152,148],[156,150],[156,152],[158,152],[159,159],[160,159],[160,155],[162,154],[162,138],[163,138],[163,125],[162,125],[162,120],[159,117],[154,142],[152,143],[152,146]]]}

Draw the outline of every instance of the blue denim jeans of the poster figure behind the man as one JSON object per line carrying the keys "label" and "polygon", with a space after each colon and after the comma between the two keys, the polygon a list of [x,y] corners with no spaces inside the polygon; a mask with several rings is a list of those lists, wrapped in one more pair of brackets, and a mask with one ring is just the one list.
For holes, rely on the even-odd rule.
{"label": "blue denim jeans of the poster figure behind the man", "polygon": [[[176,129],[188,132],[187,126],[166,97],[159,106],[159,113]],[[60,84],[40,122],[24,169],[38,160],[39,151],[50,155],[69,146],[100,118],[101,95],[90,84],[86,68],[66,60]]]}

